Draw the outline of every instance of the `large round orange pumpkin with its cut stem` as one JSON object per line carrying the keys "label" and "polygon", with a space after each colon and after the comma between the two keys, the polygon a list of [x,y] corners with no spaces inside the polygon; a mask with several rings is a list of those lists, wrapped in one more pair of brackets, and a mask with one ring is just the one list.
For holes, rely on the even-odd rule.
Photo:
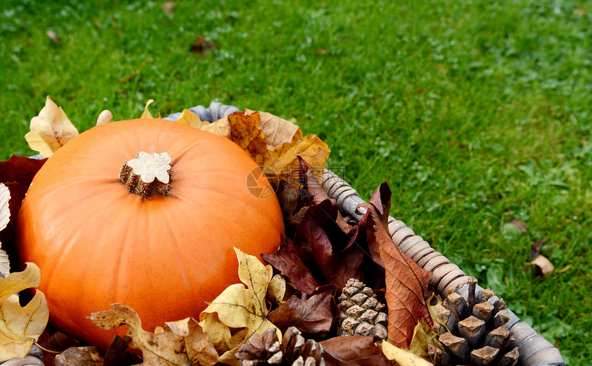
{"label": "large round orange pumpkin with its cut stem", "polygon": [[41,269],[50,324],[105,350],[115,330],[92,312],[128,305],[145,330],[198,319],[204,301],[240,283],[233,247],[259,258],[277,249],[282,211],[261,189],[271,186],[253,159],[213,133],[158,119],[93,127],[34,177],[19,261]]}

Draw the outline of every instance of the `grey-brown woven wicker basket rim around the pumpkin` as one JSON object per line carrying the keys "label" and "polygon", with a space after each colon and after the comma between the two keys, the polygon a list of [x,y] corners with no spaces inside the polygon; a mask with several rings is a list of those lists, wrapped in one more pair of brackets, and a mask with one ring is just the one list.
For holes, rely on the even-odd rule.
{"label": "grey-brown woven wicker basket rim around the pumpkin", "polygon": [[[213,122],[228,114],[232,114],[239,109],[230,105],[212,102],[208,108],[198,105],[189,109],[197,114],[200,119]],[[165,117],[167,120],[176,120],[180,114],[171,114]],[[353,219],[361,219],[361,215],[356,212],[359,204],[366,203],[362,200],[355,189],[348,182],[341,179],[332,171],[325,170],[321,182],[329,197],[336,200],[339,210],[344,216],[350,216]],[[364,213],[365,208],[359,208],[358,212]],[[394,243],[401,250],[413,259],[421,268],[433,272],[430,279],[430,285],[437,289],[441,297],[458,290],[463,297],[467,297],[469,278],[461,268],[456,264],[450,263],[450,260],[437,252],[423,240],[419,235],[415,235],[413,230],[405,225],[401,220],[390,217],[388,219],[389,233]],[[477,286],[476,293],[481,292],[483,288]],[[498,297],[489,299],[492,303],[498,300]],[[513,344],[509,348],[518,346],[520,352],[520,364],[523,366],[562,366],[565,365],[559,349],[551,345],[543,336],[537,334],[530,325],[520,321],[514,312],[509,311],[510,321],[507,323],[509,331],[514,336]]]}

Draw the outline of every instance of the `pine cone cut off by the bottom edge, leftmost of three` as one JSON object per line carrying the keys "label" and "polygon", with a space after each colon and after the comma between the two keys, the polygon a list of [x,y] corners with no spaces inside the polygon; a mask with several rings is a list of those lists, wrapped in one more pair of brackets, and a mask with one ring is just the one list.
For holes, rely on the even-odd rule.
{"label": "pine cone cut off by the bottom edge, leftmost of three", "polygon": [[236,358],[240,366],[325,366],[323,347],[313,339],[305,340],[296,327],[289,327],[279,343],[275,328],[255,334],[240,347]]}

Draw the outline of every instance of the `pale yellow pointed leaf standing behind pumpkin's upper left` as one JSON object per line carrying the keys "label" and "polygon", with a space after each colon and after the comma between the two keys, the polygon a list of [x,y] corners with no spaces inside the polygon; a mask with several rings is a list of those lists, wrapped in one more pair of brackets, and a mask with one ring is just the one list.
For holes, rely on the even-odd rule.
{"label": "pale yellow pointed leaf standing behind pumpkin's upper left", "polygon": [[39,151],[44,158],[49,158],[66,142],[78,136],[76,127],[50,96],[47,96],[45,107],[39,111],[39,116],[31,119],[30,130],[25,135],[25,140],[32,150]]}

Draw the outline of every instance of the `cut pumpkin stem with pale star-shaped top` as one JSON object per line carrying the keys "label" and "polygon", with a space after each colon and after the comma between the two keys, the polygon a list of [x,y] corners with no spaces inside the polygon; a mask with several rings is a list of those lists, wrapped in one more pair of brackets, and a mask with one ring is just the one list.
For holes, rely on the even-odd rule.
{"label": "cut pumpkin stem with pale star-shaped top", "polygon": [[123,164],[119,178],[129,193],[142,197],[167,195],[171,191],[171,155],[140,151]]}

